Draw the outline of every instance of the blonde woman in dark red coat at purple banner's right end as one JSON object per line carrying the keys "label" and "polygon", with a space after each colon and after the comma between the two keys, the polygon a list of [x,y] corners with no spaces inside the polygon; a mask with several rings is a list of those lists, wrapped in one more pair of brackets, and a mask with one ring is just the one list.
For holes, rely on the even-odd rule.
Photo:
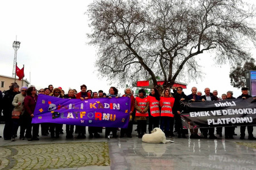
{"label": "blonde woman in dark red coat at purple banner's right end", "polygon": [[132,114],[134,112],[134,101],[135,101],[135,98],[134,98],[133,94],[131,93],[131,88],[130,87],[127,87],[125,89],[125,94],[122,97],[130,97],[131,108],[130,108],[130,113],[129,113],[130,114],[130,120],[129,120],[128,127],[127,127],[127,129],[121,128],[120,138],[125,137],[125,134],[127,135],[128,138],[131,138],[131,132],[133,131],[133,116],[132,116]]}

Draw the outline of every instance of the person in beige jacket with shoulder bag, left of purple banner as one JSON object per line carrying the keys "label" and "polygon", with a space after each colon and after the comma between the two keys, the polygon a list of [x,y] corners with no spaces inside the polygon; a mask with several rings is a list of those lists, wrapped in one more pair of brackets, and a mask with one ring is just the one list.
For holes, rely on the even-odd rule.
{"label": "person in beige jacket with shoulder bag, left of purple banner", "polygon": [[[24,99],[27,96],[27,87],[23,86],[20,92],[21,92],[20,94],[14,96],[13,103],[12,103],[14,106],[14,111],[21,112],[21,114],[19,119],[13,119],[13,130],[11,133],[11,141],[15,141],[15,136],[17,134],[20,121],[22,120],[21,117],[22,117],[22,113],[24,112],[23,106],[24,106]],[[24,134],[22,133],[22,129],[20,129],[20,131],[21,131],[20,134]],[[22,137],[21,135],[19,135],[19,138],[22,139],[24,138],[24,136]]]}

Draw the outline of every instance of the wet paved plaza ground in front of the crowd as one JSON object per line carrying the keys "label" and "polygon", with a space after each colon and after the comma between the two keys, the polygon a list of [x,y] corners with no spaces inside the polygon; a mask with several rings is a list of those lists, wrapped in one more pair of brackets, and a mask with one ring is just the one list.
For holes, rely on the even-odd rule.
{"label": "wet paved plaza ground in front of the crowd", "polygon": [[104,133],[92,139],[88,133],[86,139],[66,139],[65,133],[39,141],[0,138],[0,169],[256,169],[256,141],[240,140],[239,131],[234,139],[174,137],[168,144],[142,143],[136,131],[133,138],[116,139]]}

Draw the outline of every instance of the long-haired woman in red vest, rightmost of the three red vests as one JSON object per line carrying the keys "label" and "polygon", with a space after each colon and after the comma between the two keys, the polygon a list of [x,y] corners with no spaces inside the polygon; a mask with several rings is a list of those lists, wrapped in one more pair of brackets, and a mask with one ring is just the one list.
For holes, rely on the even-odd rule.
{"label": "long-haired woman in red vest, rightmost of the three red vests", "polygon": [[164,131],[166,137],[171,138],[170,131],[174,131],[174,114],[172,108],[174,107],[174,97],[172,97],[170,89],[166,88],[163,91],[163,97],[160,97],[160,116],[161,124],[160,129]]}

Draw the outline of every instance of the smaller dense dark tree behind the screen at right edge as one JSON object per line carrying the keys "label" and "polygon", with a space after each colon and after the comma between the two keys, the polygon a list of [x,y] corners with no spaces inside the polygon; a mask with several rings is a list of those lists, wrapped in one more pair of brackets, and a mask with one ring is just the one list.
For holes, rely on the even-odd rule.
{"label": "smaller dense dark tree behind the screen at right edge", "polygon": [[250,58],[248,61],[245,61],[243,66],[241,66],[241,63],[233,66],[230,69],[229,74],[230,84],[236,88],[246,87],[245,71],[250,70],[256,70],[254,58]]}

